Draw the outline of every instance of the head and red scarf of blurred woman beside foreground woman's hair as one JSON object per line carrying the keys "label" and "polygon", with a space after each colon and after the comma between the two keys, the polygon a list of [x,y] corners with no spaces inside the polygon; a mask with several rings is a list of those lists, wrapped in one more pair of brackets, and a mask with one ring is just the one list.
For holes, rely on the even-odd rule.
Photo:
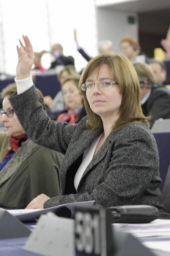
{"label": "head and red scarf of blurred woman beside foreground woman's hair", "polygon": [[66,121],[69,124],[78,123],[86,114],[83,98],[78,87],[79,78],[70,76],[62,84],[62,94],[67,111],[57,117],[57,121]]}

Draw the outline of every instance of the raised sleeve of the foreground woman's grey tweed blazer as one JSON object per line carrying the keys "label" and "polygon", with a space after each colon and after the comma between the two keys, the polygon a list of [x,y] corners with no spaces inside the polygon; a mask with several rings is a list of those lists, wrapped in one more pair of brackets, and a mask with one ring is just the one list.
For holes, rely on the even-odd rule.
{"label": "raised sleeve of the foreground woman's grey tweed blazer", "polygon": [[19,122],[32,141],[65,153],[76,124],[69,125],[67,122],[51,120],[39,102],[34,85],[21,94],[13,93],[9,100]]}

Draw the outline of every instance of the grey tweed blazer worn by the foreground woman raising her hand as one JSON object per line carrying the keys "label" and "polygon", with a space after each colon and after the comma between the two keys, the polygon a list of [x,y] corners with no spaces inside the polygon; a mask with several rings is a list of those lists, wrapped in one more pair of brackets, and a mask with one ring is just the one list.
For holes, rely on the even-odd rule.
{"label": "grey tweed blazer worn by the foreground woman raising her hand", "polygon": [[132,123],[111,131],[87,166],[75,191],[74,175],[85,149],[103,131],[91,131],[87,116],[78,124],[49,119],[33,85],[9,97],[11,105],[31,140],[65,154],[60,166],[61,196],[48,199],[44,208],[67,202],[95,200],[103,207],[149,204],[164,215],[159,185],[159,155],[155,138],[145,124]]}

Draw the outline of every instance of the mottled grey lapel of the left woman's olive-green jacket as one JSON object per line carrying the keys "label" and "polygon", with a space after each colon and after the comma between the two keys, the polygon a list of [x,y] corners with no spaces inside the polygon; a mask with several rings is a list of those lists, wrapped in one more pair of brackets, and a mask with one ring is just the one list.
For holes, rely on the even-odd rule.
{"label": "mottled grey lapel of the left woman's olive-green jacket", "polygon": [[0,185],[11,177],[20,164],[38,147],[39,145],[28,138],[0,171]]}

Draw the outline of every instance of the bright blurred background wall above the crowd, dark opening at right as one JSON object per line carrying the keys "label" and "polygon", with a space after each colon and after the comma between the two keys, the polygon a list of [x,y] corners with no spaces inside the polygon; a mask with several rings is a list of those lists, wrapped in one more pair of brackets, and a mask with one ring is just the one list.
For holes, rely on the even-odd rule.
{"label": "bright blurred background wall above the crowd, dark opening at right", "polygon": [[98,53],[102,39],[112,40],[120,53],[120,39],[130,35],[152,57],[169,26],[170,0],[0,0],[0,72],[15,73],[16,44],[22,34],[29,36],[34,51],[61,43],[80,70],[87,62],[77,52],[74,28],[90,56]]}

